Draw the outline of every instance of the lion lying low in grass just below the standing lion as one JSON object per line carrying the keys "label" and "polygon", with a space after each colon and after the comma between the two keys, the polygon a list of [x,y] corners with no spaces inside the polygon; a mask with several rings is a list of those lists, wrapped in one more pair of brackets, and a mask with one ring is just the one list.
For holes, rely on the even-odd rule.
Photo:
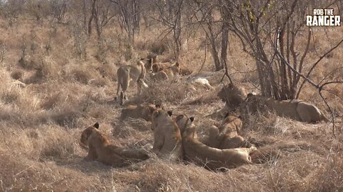
{"label": "lion lying low in grass just below the standing lion", "polygon": [[121,115],[119,117],[120,121],[124,121],[126,117],[144,119],[146,122],[151,122],[151,114],[155,110],[161,109],[161,105],[154,105],[151,103],[141,103],[139,105],[126,105],[126,107],[121,110]]}

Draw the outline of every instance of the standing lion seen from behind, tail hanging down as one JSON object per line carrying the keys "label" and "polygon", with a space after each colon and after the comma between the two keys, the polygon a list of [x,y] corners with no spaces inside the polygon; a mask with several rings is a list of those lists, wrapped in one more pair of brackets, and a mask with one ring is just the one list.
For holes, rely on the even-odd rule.
{"label": "standing lion seen from behind, tail hanging down", "polygon": [[120,105],[123,105],[124,99],[127,99],[126,90],[129,87],[131,80],[137,83],[137,94],[141,93],[141,86],[147,87],[144,82],[146,70],[151,70],[151,66],[154,63],[154,60],[151,58],[146,60],[142,58],[139,60],[136,65],[123,65],[116,71],[118,76],[118,87],[116,90],[116,97],[114,100],[118,100],[119,91],[120,92]]}

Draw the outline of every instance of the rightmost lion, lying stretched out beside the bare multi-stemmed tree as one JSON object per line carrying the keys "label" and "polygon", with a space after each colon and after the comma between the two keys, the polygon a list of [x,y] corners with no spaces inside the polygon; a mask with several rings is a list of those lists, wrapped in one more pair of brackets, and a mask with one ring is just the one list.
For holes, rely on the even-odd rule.
{"label": "rightmost lion, lying stretched out beside the bare multi-stemmed tree", "polygon": [[247,98],[247,108],[249,110],[256,112],[257,110],[263,110],[264,107],[280,117],[289,117],[300,122],[315,123],[322,120],[329,122],[324,113],[309,102],[302,100],[278,101],[262,95],[249,94]]}

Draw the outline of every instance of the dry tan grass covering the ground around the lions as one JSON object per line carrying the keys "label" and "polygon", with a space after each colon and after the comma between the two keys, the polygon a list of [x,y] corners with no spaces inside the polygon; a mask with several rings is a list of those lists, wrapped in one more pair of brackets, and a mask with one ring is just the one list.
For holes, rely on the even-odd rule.
{"label": "dry tan grass covering the ground around the lions", "polygon": [[[271,157],[264,164],[214,172],[156,156],[120,169],[84,161],[86,151],[79,146],[80,133],[94,122],[99,122],[101,131],[118,146],[140,147],[154,142],[149,122],[128,119],[121,124],[117,120],[121,107],[113,99],[119,65],[114,63],[135,62],[149,53],[158,54],[159,60],[173,59],[169,40],[154,41],[161,29],[142,28],[133,48],[127,46],[126,38],[118,35],[116,28],[107,28],[104,36],[112,40],[104,44],[106,53],[101,60],[106,62],[102,62],[96,37],[84,41],[86,56],[80,58],[75,54],[74,33],[67,26],[57,25],[51,50],[46,53],[53,30],[48,21],[36,25],[19,18],[14,27],[0,21],[6,26],[0,28],[0,42],[6,45],[0,69],[0,191],[343,191],[342,136],[334,139],[329,124],[304,124],[274,114],[249,114],[244,120],[244,137],[259,147],[280,141],[297,143],[299,147],[282,149],[281,156]],[[342,31],[335,33],[342,36]],[[309,63],[314,60],[317,45],[324,49],[334,40],[334,36],[318,35],[317,43],[311,45]],[[234,36],[230,36],[230,42],[232,77],[244,82],[249,91],[256,90],[249,83],[256,82],[256,72],[237,73],[254,70],[253,59],[242,52]],[[204,46],[197,39],[184,42],[180,60],[185,74],[197,73],[203,62],[202,72],[214,67],[211,57],[204,59]],[[321,80],[330,69],[342,65],[342,60],[338,49],[324,58],[314,80]],[[134,95],[136,87],[131,85],[128,103],[162,103],[174,114],[192,115],[198,135],[203,137],[207,127],[219,123],[207,115],[224,106],[216,98],[221,78],[209,78],[216,87],[212,91],[194,91],[185,78],[179,77],[151,82],[140,97]],[[14,80],[26,85],[20,86]],[[331,88],[334,95],[325,93],[326,97],[337,117],[342,117],[342,87]],[[326,109],[309,86],[301,97]],[[187,105],[194,99],[199,103]]]}

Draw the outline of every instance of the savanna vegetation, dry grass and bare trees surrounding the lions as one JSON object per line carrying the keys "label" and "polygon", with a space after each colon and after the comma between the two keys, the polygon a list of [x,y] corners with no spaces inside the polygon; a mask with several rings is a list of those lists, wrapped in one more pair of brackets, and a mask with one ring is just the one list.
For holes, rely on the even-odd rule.
{"label": "savanna vegetation, dry grass and bare trees surrounding the lions", "polygon": [[[343,191],[343,28],[305,26],[312,9],[342,0],[0,1],[0,191]],[[341,22],[342,25],[342,22]],[[314,30],[315,29],[315,30]],[[198,137],[222,119],[227,83],[276,100],[301,99],[330,122],[246,114],[257,148],[289,142],[262,164],[209,171],[159,159],[126,167],[85,161],[94,122],[117,146],[154,142],[151,122],[119,121],[116,70],[155,57],[179,75],[149,80],[126,104],[194,116]],[[201,74],[213,88],[191,83]],[[192,102],[197,100],[197,102]]]}

